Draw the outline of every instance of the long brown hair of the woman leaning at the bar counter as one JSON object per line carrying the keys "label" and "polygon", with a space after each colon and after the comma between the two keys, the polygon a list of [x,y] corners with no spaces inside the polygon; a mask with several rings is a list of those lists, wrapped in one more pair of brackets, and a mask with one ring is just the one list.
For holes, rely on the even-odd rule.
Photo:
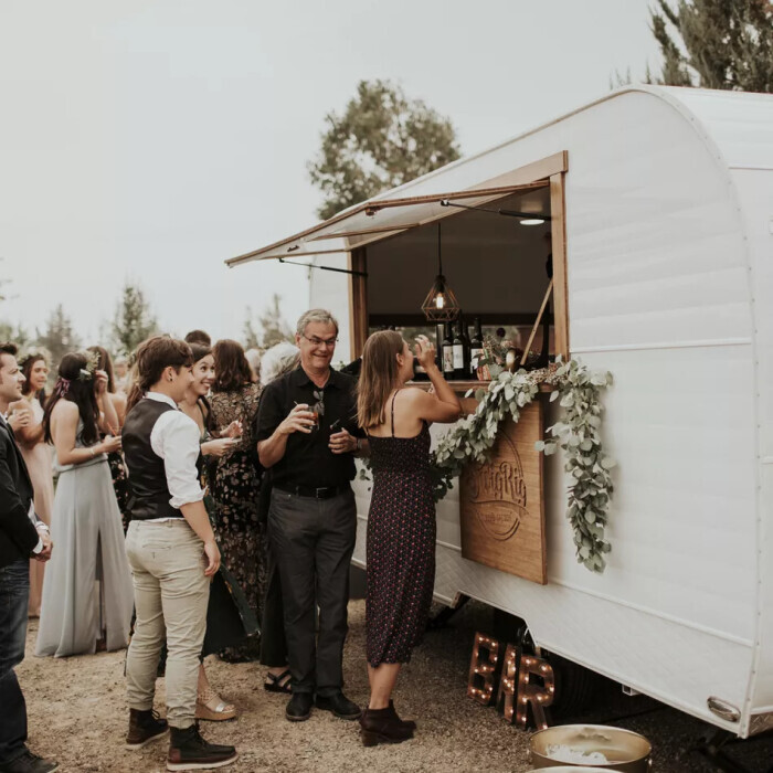
{"label": "long brown hair of the woman leaning at the bar counter", "polygon": [[363,430],[386,421],[386,400],[400,382],[398,354],[403,353],[404,345],[394,330],[380,330],[366,341],[357,385],[357,423]]}

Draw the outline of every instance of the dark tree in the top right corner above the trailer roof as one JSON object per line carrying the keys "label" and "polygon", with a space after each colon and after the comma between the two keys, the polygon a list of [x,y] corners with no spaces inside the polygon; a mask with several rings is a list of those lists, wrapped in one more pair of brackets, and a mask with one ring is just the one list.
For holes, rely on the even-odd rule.
{"label": "dark tree in the top right corner above the trailer roof", "polygon": [[[660,45],[657,83],[773,93],[770,0],[657,0],[652,30]],[[677,42],[669,33],[680,38]]]}

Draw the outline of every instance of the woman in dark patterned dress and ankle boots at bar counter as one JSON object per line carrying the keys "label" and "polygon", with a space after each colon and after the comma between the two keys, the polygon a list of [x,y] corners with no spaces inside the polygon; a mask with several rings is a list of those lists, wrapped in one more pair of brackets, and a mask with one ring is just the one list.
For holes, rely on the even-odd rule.
{"label": "woman in dark patterned dress and ankle boots at bar counter", "polygon": [[358,420],[368,433],[373,494],[368,516],[368,678],[362,742],[399,743],[413,735],[391,700],[400,666],[422,638],[435,583],[435,502],[430,477],[430,424],[454,422],[458,398],[421,336],[416,358],[434,393],[405,386],[413,354],[400,333],[373,333],[362,352]]}

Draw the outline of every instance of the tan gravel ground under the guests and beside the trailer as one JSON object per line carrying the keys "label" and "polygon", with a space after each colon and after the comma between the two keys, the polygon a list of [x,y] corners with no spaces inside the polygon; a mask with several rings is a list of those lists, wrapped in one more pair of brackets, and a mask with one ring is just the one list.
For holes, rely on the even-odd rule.
{"label": "tan gravel ground under the guests and beside the trailer", "polygon": [[[346,692],[364,702],[364,602],[350,603],[350,634],[345,653]],[[336,771],[520,771],[530,770],[528,734],[509,726],[494,708],[466,697],[467,669],[476,629],[490,629],[490,610],[470,603],[452,624],[427,634],[400,677],[395,705],[414,718],[412,741],[364,749],[359,726],[315,712],[308,722],[285,720],[285,696],[263,690],[265,669],[255,664],[230,665],[209,658],[210,679],[234,701],[242,716],[232,722],[202,722],[205,738],[233,743],[239,761],[229,771],[301,773]],[[36,622],[31,622],[32,652]],[[128,710],[123,678],[124,653],[54,659],[30,656],[18,668],[30,716],[31,748],[61,763],[61,771],[108,773],[162,771],[167,745],[159,741],[139,752],[123,748]],[[163,680],[157,708],[163,709]],[[638,712],[638,716],[629,714]],[[627,714],[627,718],[626,718]],[[608,693],[582,721],[605,721],[645,734],[654,744],[655,771],[702,773],[716,770],[690,751],[706,726],[645,698]],[[729,754],[762,773],[773,762],[773,739],[733,744]]]}

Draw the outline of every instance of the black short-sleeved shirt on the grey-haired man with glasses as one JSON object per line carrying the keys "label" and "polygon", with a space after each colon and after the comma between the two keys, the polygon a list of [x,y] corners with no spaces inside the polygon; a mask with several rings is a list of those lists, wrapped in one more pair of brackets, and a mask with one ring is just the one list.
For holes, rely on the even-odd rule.
{"label": "black short-sleeved shirt on the grey-haired man with glasses", "polygon": [[322,488],[341,486],[354,478],[353,455],[333,454],[328,444],[330,435],[341,428],[356,437],[366,436],[357,425],[356,385],[350,375],[331,369],[330,379],[320,390],[299,367],[263,390],[256,420],[258,442],[271,437],[297,403],[311,406],[319,402],[314,392],[321,394],[325,405],[319,426],[311,434],[294,432],[288,435],[285,455],[271,468],[274,486]]}

